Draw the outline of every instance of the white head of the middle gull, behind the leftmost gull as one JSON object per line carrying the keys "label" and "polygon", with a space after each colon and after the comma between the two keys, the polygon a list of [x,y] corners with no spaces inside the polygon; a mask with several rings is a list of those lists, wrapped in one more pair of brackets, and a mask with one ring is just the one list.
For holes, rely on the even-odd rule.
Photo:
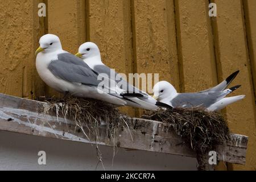
{"label": "white head of the middle gull, behind the leftmost gull", "polygon": [[86,42],[79,47],[79,52],[76,53],[77,57],[81,59],[88,59],[95,56],[100,56],[100,49],[92,42]]}

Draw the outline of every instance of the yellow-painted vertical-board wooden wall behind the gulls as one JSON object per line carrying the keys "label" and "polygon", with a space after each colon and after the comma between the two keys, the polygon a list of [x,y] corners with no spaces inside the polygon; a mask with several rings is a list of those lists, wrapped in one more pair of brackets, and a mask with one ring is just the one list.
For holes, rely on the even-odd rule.
{"label": "yellow-painted vertical-board wooden wall behind the gulls", "polygon": [[[39,2],[47,5],[46,18],[37,15]],[[209,2],[217,4],[216,18],[208,16]],[[159,73],[181,92],[207,89],[240,69],[233,84],[242,84],[235,94],[246,99],[225,112],[230,129],[249,136],[249,144],[246,165],[227,167],[256,169],[255,17],[255,0],[0,0],[0,92],[59,95],[35,69],[34,52],[47,33],[72,53],[95,42],[109,67]]]}

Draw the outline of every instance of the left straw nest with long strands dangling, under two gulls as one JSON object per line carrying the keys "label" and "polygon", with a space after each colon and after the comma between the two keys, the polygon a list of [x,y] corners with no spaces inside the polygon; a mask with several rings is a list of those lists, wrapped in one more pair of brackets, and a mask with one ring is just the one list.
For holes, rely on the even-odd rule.
{"label": "left straw nest with long strands dangling, under two gulls", "polygon": [[[61,116],[65,119],[70,119],[75,122],[76,127],[79,128],[79,131],[84,133],[88,140],[94,137],[96,141],[97,157],[103,168],[102,154],[97,144],[100,140],[99,126],[102,124],[106,125],[106,134],[110,142],[113,142],[114,148],[118,131],[123,130],[123,127],[128,127],[129,129],[125,121],[127,116],[120,113],[117,107],[108,102],[71,96],[63,99],[39,97],[37,100],[48,102],[49,107],[44,108],[45,114],[51,111],[56,113],[57,117]],[[87,129],[87,132],[85,129]]]}

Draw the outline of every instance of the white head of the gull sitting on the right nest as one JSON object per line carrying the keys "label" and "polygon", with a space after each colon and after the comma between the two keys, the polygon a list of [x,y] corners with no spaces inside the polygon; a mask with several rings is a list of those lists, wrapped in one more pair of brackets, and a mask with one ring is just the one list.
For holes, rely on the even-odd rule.
{"label": "white head of the gull sitting on the right nest", "polygon": [[153,92],[153,97],[158,101],[173,96],[174,94],[177,94],[177,91],[174,88],[174,86],[172,86],[172,84],[170,84],[167,81],[159,81],[158,83],[156,83],[153,88]]}

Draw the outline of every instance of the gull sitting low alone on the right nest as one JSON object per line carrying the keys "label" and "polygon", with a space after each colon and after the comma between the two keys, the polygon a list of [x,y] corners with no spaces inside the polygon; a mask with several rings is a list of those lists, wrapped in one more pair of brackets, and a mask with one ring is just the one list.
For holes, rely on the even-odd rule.
{"label": "gull sitting low alone on the right nest", "polygon": [[[177,93],[174,86],[169,82],[160,81],[155,84],[153,88],[153,97],[159,102],[163,102],[172,107],[203,107],[209,111],[217,111],[233,102],[245,98],[244,95],[225,98],[228,94],[240,88],[240,86],[241,85],[237,85],[220,91],[209,90],[208,92]],[[224,86],[219,86],[219,88],[224,88]]]}

